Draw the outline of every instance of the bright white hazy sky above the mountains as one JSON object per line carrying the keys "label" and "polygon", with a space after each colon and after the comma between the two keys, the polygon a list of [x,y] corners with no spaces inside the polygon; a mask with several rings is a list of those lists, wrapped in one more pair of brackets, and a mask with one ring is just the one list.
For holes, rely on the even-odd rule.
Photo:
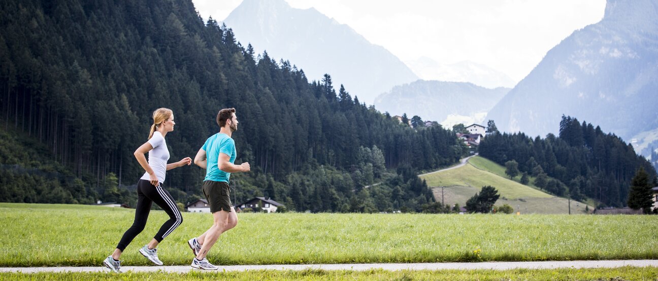
{"label": "bright white hazy sky above the mountains", "polygon": [[[347,24],[403,61],[469,60],[515,81],[575,30],[603,18],[605,0],[286,0]],[[241,0],[193,0],[204,19],[224,20]]]}

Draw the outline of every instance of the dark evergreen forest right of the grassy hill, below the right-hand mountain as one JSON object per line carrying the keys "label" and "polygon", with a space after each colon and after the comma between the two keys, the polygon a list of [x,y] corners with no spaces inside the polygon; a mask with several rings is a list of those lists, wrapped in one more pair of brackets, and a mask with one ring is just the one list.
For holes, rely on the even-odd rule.
{"label": "dark evergreen forest right of the grassy hill, below the right-hand mountain", "polygon": [[481,156],[501,165],[517,162],[520,173],[537,177],[535,185],[553,194],[575,200],[586,196],[602,206],[626,205],[631,179],[640,167],[652,179],[656,177],[651,163],[636,154],[631,144],[570,116],[562,117],[559,137],[492,133],[478,149]]}

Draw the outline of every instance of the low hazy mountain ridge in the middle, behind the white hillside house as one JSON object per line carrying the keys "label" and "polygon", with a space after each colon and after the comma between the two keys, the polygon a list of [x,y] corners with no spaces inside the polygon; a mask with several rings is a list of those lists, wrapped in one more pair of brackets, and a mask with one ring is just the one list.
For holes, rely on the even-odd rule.
{"label": "low hazy mountain ridge in the middle, behind the white hillside house", "polygon": [[509,88],[486,89],[466,82],[418,80],[393,87],[376,98],[375,108],[392,115],[453,123],[481,123]]}

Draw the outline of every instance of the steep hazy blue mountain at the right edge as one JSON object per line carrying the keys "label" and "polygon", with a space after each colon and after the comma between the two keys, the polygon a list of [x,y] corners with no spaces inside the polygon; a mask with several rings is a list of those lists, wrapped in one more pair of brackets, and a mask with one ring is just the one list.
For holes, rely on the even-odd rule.
{"label": "steep hazy blue mountain at the right edge", "polygon": [[[501,131],[557,133],[563,114],[630,141],[658,128],[658,3],[609,0],[489,112]],[[651,140],[647,140],[651,141]]]}

